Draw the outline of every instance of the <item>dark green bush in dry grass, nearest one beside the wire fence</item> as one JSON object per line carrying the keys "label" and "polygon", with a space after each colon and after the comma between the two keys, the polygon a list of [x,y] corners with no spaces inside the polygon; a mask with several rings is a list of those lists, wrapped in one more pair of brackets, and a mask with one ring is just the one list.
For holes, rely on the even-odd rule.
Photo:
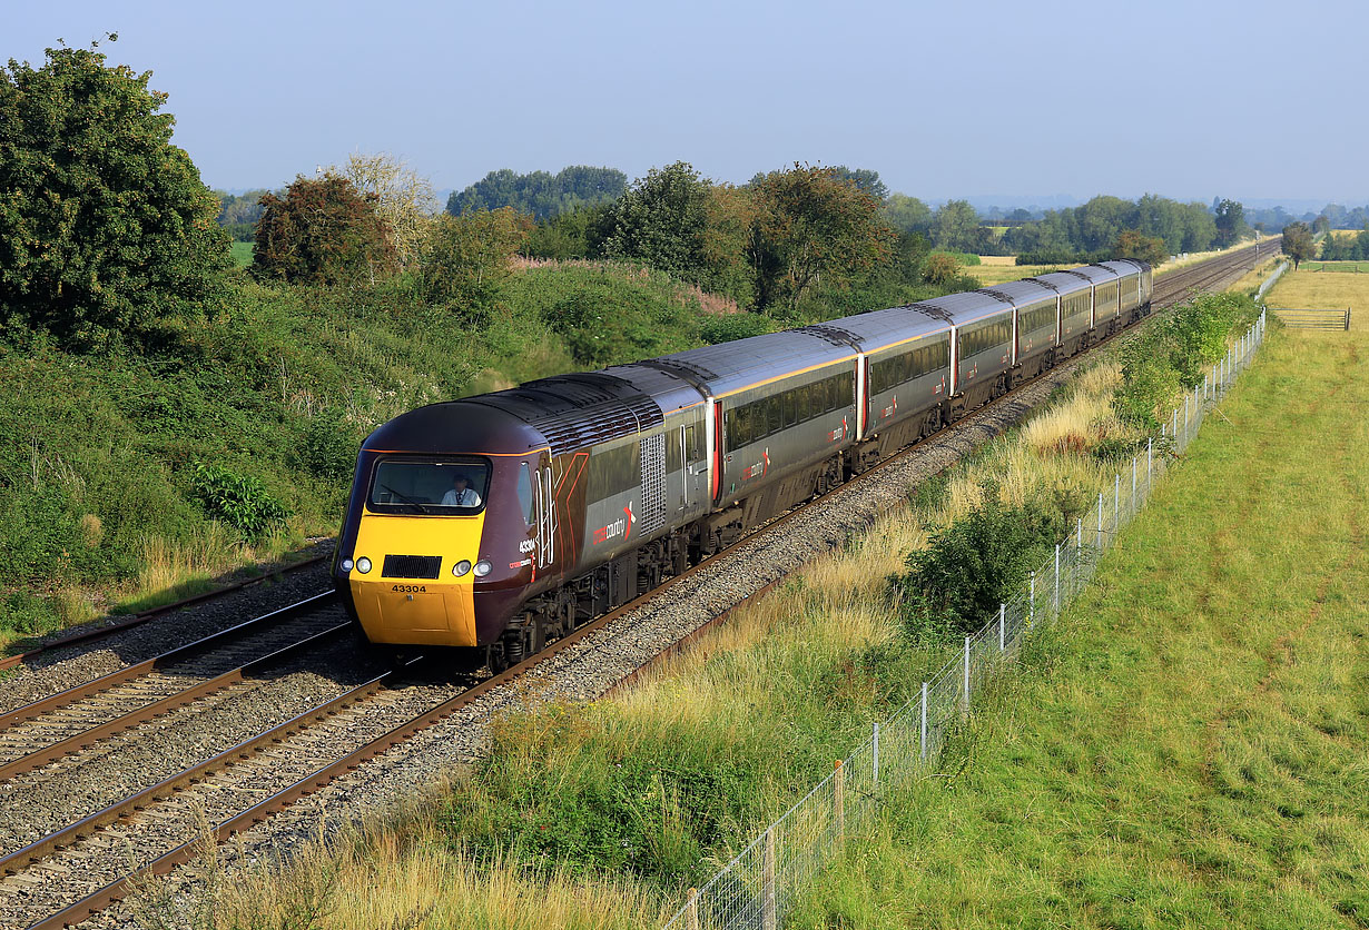
{"label": "dark green bush in dry grass, nearest one beside the wire fence", "polygon": [[1054,484],[1008,505],[994,481],[980,488],[979,505],[936,531],[908,557],[908,572],[888,580],[904,630],[914,640],[945,641],[983,626],[1023,589],[1091,499],[1080,486]]}

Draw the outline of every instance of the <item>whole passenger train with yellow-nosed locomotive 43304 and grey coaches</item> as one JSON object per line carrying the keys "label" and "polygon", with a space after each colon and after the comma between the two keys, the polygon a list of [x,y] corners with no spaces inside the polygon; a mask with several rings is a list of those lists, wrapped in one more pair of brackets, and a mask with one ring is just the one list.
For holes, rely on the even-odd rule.
{"label": "whole passenger train with yellow-nosed locomotive 43304 and grey coaches", "polygon": [[1103,261],[423,406],[361,444],[333,581],[392,652],[509,667],[1150,313]]}

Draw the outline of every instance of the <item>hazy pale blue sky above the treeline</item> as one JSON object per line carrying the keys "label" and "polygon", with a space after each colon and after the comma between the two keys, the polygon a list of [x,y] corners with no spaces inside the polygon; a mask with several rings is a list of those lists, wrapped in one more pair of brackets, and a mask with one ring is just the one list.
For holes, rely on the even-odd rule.
{"label": "hazy pale blue sky above the treeline", "polygon": [[[973,194],[1369,201],[1369,4],[5,0],[3,57],[118,31],[216,187],[386,150],[487,171],[791,161]],[[1123,12],[1125,10],[1125,12]],[[1261,130],[1268,137],[1261,138]]]}

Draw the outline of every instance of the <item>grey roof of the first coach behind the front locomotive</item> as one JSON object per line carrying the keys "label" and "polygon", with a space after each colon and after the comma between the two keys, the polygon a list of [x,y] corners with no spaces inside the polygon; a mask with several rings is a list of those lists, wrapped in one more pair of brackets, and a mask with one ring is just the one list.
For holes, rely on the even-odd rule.
{"label": "grey roof of the first coach behind the front locomotive", "polygon": [[839,336],[824,332],[824,328],[831,330],[838,323],[767,332],[641,364],[678,372],[705,386],[713,397],[721,397],[783,375],[852,358],[856,354],[853,346],[842,345]]}

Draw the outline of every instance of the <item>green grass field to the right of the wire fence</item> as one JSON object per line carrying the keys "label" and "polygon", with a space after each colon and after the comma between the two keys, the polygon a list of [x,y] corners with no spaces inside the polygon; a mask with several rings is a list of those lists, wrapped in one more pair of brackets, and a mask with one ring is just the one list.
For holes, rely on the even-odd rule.
{"label": "green grass field to the right of the wire fence", "polygon": [[1369,926],[1366,349],[1275,335],[964,771],[789,926]]}

